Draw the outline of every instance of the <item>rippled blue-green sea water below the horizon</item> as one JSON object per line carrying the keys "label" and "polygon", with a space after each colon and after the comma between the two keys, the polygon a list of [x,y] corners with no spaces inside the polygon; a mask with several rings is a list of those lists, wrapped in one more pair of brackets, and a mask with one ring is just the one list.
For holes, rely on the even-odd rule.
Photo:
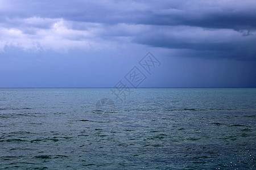
{"label": "rippled blue-green sea water below the horizon", "polygon": [[255,169],[255,124],[255,88],[0,88],[0,169]]}

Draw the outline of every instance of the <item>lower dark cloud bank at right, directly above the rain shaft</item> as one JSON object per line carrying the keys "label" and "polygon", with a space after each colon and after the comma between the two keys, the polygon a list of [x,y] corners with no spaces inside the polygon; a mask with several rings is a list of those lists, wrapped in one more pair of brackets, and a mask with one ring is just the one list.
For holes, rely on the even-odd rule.
{"label": "lower dark cloud bank at right, directly above the rain shaft", "polygon": [[191,49],[191,56],[194,57],[256,60],[256,37],[250,31],[201,30],[194,27],[179,27],[180,30],[166,27],[163,31],[157,31],[158,27],[136,36],[133,41],[160,48]]}

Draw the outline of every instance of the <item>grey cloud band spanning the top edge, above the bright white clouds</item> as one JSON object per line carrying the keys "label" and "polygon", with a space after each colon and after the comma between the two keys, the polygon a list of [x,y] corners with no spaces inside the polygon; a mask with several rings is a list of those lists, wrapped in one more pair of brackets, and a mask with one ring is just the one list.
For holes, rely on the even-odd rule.
{"label": "grey cloud band spanning the top edge, above the bright white clouds", "polygon": [[[6,1],[7,2],[7,1]],[[64,18],[79,22],[189,25],[255,29],[254,1],[8,1],[1,16]]]}

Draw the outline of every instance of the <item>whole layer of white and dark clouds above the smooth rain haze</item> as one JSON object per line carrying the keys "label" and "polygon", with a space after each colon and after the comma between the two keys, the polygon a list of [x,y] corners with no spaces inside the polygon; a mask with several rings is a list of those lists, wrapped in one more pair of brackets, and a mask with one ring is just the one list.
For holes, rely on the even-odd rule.
{"label": "whole layer of white and dark clouds above the smooth rain haze", "polygon": [[0,2],[0,51],[105,50],[134,43],[187,57],[256,59],[255,1]]}

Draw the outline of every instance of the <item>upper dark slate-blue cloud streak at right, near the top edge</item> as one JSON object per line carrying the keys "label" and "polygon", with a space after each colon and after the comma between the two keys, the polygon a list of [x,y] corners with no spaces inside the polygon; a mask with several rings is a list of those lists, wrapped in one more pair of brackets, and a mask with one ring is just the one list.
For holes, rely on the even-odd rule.
{"label": "upper dark slate-blue cloud streak at right, near the top edge", "polygon": [[[256,11],[256,9],[254,9]],[[143,24],[190,25],[205,28],[255,29],[256,12],[211,12],[183,11],[180,14],[148,14]]]}

